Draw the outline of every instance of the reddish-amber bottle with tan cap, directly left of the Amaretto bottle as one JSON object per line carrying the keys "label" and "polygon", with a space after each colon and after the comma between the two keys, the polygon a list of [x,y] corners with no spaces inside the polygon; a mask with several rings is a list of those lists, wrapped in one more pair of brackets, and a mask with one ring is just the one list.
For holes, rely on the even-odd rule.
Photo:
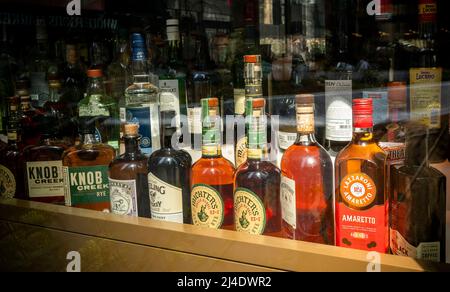
{"label": "reddish-amber bottle with tan cap, directly left of the Amaretto bottle", "polygon": [[281,160],[283,236],[334,244],[333,163],[316,141],[314,96],[296,97],[297,140]]}

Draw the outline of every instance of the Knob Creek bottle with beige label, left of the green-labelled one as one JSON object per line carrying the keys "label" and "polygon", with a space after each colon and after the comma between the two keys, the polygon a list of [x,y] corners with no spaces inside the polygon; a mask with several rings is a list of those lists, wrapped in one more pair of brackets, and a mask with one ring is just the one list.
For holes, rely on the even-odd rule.
{"label": "Knob Creek bottle with beige label, left of the green-labelled one", "polygon": [[25,148],[23,156],[28,199],[64,205],[62,155],[68,145],[56,137],[58,121],[55,116],[42,116],[41,141]]}

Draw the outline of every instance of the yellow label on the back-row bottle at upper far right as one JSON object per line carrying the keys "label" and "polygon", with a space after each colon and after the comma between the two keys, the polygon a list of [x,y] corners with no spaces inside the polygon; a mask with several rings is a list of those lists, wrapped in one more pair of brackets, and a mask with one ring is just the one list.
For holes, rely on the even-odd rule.
{"label": "yellow label on the back-row bottle at upper far right", "polygon": [[440,129],[442,68],[412,68],[410,80],[411,120]]}

